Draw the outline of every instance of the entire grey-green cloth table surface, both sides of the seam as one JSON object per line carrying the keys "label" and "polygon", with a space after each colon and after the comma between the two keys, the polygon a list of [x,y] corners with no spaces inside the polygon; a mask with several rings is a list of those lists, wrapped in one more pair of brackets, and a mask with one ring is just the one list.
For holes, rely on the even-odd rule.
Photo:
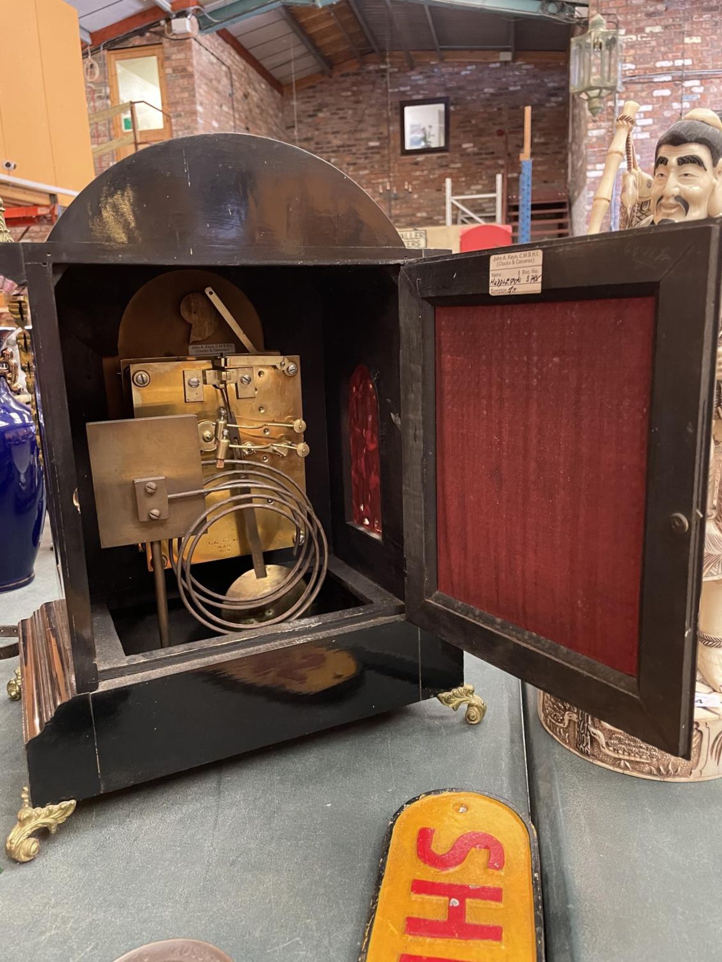
{"label": "entire grey-green cloth table surface, both sides of the seam", "polygon": [[[55,595],[0,595],[0,621]],[[0,662],[0,681],[15,660]],[[185,936],[234,962],[355,962],[387,823],[459,787],[528,810],[518,682],[467,658],[476,728],[436,701],[82,803],[35,862],[0,855],[0,958],[113,962]],[[0,835],[25,781],[18,704],[0,689]],[[722,781],[665,785],[556,745],[525,693],[549,962],[722,959]]]}

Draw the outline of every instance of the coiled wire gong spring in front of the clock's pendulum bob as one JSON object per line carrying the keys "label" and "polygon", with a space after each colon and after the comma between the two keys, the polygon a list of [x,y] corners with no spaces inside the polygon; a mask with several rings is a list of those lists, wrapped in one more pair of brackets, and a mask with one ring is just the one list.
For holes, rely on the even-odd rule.
{"label": "coiled wire gong spring in front of the clock's pendulum bob", "polygon": [[[319,594],[328,566],[328,544],[321,521],[296,482],[278,468],[239,460],[227,460],[225,464],[242,467],[219,471],[207,478],[203,494],[227,491],[228,496],[202,511],[183,538],[175,539],[170,547],[170,563],[183,604],[201,624],[231,634],[243,630],[244,625],[222,618],[219,612],[244,613],[271,605],[294,591],[297,585],[305,583],[302,594],[288,610],[263,620],[263,624],[298,618]],[[271,511],[295,526],[294,564],[288,568],[280,585],[269,592],[259,592],[251,598],[220,595],[202,585],[193,575],[193,554],[200,539],[216,521],[246,511]],[[259,579],[259,586],[262,584],[263,579]]]}

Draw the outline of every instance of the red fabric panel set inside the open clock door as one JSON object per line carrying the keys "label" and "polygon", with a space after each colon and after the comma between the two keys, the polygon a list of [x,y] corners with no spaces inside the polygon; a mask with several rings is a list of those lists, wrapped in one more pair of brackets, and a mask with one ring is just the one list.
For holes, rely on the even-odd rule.
{"label": "red fabric panel set inside the open clock door", "polygon": [[438,588],[635,674],[655,300],[436,309]]}

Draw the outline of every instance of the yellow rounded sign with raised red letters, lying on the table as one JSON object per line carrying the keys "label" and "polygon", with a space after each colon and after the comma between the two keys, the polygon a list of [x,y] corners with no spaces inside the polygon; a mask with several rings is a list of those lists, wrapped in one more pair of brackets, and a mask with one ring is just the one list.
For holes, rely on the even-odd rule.
{"label": "yellow rounded sign with raised red letters, lying on the table", "polygon": [[542,962],[536,838],[497,798],[410,802],[381,872],[361,962]]}

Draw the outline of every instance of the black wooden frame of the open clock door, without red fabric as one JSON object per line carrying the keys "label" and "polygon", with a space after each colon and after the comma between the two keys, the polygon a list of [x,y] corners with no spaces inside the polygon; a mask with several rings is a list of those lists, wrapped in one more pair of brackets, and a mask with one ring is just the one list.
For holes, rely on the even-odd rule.
{"label": "black wooden frame of the open clock door, without red fabric", "polygon": [[[438,590],[434,312],[437,305],[496,300],[489,293],[493,250],[417,262],[400,273],[407,618],[636,738],[689,758],[720,302],[719,227],[652,227],[514,251],[539,248],[542,292],[507,297],[510,306],[657,298],[638,673],[612,670]],[[687,527],[675,534],[671,520],[680,510]]]}

